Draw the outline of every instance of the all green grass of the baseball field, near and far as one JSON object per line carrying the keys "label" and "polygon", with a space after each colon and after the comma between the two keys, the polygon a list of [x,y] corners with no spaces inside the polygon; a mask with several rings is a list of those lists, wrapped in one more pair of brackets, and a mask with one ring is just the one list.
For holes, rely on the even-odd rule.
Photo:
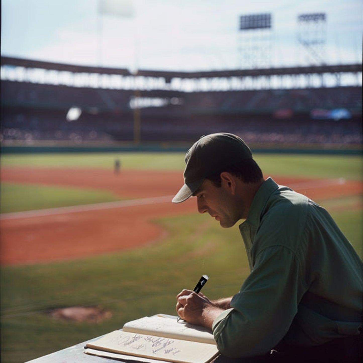
{"label": "all green grass of the baseball field, near and far", "polygon": [[[5,155],[1,166],[122,167],[180,170],[183,154],[87,154]],[[362,179],[358,156],[256,155],[265,175]],[[3,189],[3,187],[5,189]],[[27,208],[41,208],[42,193],[30,186],[2,184],[5,204],[34,194]],[[37,188],[37,186],[32,186]],[[54,188],[67,203],[95,203],[112,196],[72,188]],[[53,191],[54,191],[53,190]],[[38,193],[38,197],[37,197]],[[1,198],[3,199],[3,198]],[[56,198],[57,199],[57,198]],[[338,197],[321,202],[363,258],[362,196]],[[53,203],[53,202],[52,202]],[[33,204],[33,207],[31,206]],[[55,200],[52,206],[57,206]],[[18,205],[17,208],[25,208]],[[126,321],[156,313],[175,314],[175,295],[194,287],[201,274],[210,281],[204,293],[218,298],[236,293],[249,273],[238,227],[220,228],[208,215],[193,213],[155,221],[168,231],[163,241],[142,249],[104,254],[92,258],[52,264],[1,268],[1,362],[24,362],[76,343],[120,329]],[[228,268],[226,268],[228,266]],[[55,307],[98,305],[110,310],[111,319],[101,323],[53,320],[47,311]]]}

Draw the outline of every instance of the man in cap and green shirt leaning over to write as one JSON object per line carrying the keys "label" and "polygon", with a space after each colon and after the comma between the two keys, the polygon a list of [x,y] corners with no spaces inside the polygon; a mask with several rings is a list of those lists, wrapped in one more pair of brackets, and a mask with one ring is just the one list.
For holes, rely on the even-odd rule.
{"label": "man in cap and green shirt leaning over to write", "polygon": [[360,361],[363,264],[329,213],[265,180],[236,135],[203,136],[185,163],[173,202],[195,196],[198,211],[224,228],[245,220],[239,228],[251,272],[230,298],[181,291],[180,318],[212,329],[226,357]]}

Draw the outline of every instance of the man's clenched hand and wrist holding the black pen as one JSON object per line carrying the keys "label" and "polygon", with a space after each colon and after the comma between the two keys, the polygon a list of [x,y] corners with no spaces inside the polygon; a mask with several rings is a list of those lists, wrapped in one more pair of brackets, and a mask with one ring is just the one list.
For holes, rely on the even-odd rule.
{"label": "man's clenched hand and wrist holding the black pen", "polygon": [[197,294],[192,290],[181,291],[176,299],[176,311],[181,319],[209,329],[212,329],[214,319],[223,311],[205,295]]}

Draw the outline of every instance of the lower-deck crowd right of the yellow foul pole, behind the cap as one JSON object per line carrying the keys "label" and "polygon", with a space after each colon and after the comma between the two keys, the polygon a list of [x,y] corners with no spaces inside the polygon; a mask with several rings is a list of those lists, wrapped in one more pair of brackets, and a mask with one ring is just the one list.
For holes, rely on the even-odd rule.
{"label": "lower-deck crowd right of the yellow foul pole, behind the cap", "polygon": [[144,140],[195,141],[213,132],[232,132],[248,143],[361,144],[362,126],[351,120],[276,120],[269,117],[233,116],[163,122],[148,119],[142,125]]}

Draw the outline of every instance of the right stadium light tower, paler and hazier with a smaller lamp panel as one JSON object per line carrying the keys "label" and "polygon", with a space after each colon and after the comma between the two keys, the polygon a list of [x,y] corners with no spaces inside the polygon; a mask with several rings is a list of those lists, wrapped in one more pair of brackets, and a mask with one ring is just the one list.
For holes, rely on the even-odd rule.
{"label": "right stadium light tower, paler and hazier with a smaller lamp panel", "polygon": [[[297,17],[299,59],[307,65],[325,65],[326,14],[301,14]],[[303,59],[305,57],[305,59]]]}

